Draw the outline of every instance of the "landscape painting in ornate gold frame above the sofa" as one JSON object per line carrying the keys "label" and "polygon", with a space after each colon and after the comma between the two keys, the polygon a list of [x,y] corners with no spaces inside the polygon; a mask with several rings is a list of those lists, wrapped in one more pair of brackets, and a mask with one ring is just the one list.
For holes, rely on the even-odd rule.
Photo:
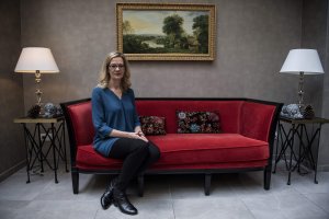
{"label": "landscape painting in ornate gold frame above the sofa", "polygon": [[214,60],[213,4],[116,3],[117,50],[128,60]]}

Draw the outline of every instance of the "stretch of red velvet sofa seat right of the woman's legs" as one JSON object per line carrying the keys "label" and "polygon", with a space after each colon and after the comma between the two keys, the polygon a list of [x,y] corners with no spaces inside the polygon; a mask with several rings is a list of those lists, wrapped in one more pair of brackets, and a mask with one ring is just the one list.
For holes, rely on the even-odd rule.
{"label": "stretch of red velvet sofa seat right of the woman's legs", "polygon": [[239,134],[167,134],[148,138],[160,148],[155,166],[265,161],[269,143]]}

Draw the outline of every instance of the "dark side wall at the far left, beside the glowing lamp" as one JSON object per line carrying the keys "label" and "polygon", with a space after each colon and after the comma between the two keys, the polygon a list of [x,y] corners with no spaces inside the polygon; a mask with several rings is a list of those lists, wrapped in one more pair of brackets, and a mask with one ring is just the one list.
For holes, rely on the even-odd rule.
{"label": "dark side wall at the far left, beside the glowing lamp", "polygon": [[20,1],[0,1],[0,181],[24,163],[22,129],[13,118],[24,112],[22,76],[13,69],[21,51]]}

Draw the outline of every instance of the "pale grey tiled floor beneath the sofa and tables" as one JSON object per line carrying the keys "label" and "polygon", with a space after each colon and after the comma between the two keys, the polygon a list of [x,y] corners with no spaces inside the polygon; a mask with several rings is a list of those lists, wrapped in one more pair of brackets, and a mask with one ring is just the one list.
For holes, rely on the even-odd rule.
{"label": "pale grey tiled floor beneath the sofa and tables", "polygon": [[59,183],[46,171],[25,184],[21,170],[0,183],[1,219],[329,219],[329,172],[300,176],[293,173],[292,185],[282,168],[272,175],[270,191],[262,186],[262,172],[217,174],[209,196],[203,193],[202,175],[154,175],[146,177],[145,196],[136,195],[132,184],[128,196],[138,208],[126,216],[111,206],[103,210],[99,198],[110,177],[80,175],[80,193],[73,195],[70,173],[61,171]]}

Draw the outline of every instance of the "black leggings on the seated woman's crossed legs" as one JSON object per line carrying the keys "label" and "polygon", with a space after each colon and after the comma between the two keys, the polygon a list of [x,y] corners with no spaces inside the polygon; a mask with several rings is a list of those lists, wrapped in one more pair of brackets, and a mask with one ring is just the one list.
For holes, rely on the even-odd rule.
{"label": "black leggings on the seated woman's crossed legs", "polygon": [[120,138],[114,142],[109,157],[124,160],[116,186],[118,189],[125,191],[133,177],[143,173],[160,158],[160,151],[150,141]]}

